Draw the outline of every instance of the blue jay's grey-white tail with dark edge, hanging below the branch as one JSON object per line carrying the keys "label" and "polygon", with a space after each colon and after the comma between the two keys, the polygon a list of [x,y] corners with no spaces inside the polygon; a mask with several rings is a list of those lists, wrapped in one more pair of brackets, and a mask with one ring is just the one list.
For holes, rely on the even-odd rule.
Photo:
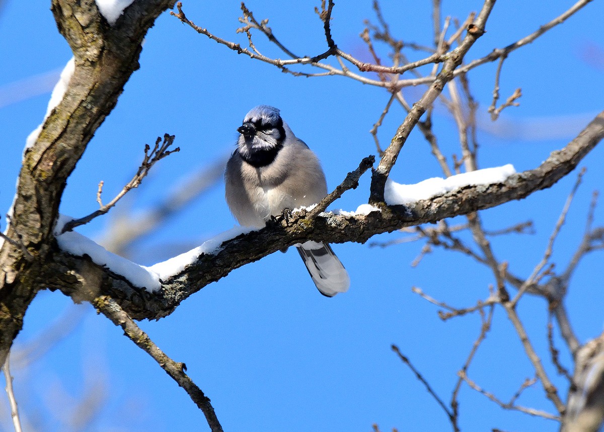
{"label": "blue jay's grey-white tail with dark edge, hanging below the branch", "polygon": [[297,246],[297,249],[321,294],[333,297],[348,291],[350,286],[348,272],[329,244],[307,241]]}

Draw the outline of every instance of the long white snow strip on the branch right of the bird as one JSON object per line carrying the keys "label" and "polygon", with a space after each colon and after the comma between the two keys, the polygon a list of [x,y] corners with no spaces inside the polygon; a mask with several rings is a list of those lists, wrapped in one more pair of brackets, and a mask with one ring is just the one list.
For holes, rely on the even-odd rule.
{"label": "long white snow strip on the branch right of the bird", "polygon": [[384,188],[384,200],[390,205],[407,205],[420,200],[428,200],[437,195],[463,188],[464,186],[490,185],[503,183],[507,177],[515,174],[512,164],[503,167],[485,168],[484,170],[470,171],[456,176],[442,179],[434,177],[423,180],[415,185],[401,185],[388,179]]}

